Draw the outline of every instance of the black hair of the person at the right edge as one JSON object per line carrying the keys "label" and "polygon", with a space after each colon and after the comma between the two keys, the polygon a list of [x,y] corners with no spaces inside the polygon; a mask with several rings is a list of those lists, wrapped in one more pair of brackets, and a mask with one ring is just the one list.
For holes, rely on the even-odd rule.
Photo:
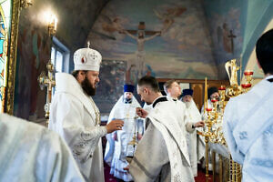
{"label": "black hair of the person at the right edge", "polygon": [[273,74],[273,29],[258,38],[256,56],[264,74]]}

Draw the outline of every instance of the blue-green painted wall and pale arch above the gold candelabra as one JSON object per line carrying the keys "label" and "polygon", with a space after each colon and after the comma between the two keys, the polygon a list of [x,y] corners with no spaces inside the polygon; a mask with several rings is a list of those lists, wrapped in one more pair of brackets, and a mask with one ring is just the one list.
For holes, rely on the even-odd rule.
{"label": "blue-green painted wall and pale arch above the gold candelabra", "polygon": [[[271,0],[205,0],[204,2],[219,73],[226,73],[224,65],[227,60],[240,57],[242,57],[242,70],[245,70],[259,35],[273,17],[273,2]],[[228,37],[230,30],[236,36],[232,39],[233,51],[231,38]],[[219,74],[219,77],[227,78],[227,74],[224,77]]]}

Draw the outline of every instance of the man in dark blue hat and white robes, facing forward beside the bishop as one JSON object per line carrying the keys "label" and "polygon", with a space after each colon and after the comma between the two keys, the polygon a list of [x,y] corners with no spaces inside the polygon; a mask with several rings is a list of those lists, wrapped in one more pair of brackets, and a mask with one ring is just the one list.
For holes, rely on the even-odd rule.
{"label": "man in dark blue hat and white robes, facing forward beside the bishop", "polygon": [[114,118],[122,119],[123,129],[106,135],[105,161],[111,167],[110,174],[124,181],[133,180],[128,171],[124,170],[128,166],[126,157],[133,157],[135,152],[128,143],[133,140],[133,136],[136,136],[136,141],[140,140],[144,132],[143,119],[136,118],[136,107],[140,105],[133,96],[134,89],[132,85],[124,86],[124,95],[120,96],[108,117],[108,123]]}

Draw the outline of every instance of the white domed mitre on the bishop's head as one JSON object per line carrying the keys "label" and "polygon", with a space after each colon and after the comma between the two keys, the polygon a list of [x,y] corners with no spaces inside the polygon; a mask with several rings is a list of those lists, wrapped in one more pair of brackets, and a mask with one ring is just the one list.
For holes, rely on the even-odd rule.
{"label": "white domed mitre on the bishop's head", "polygon": [[102,56],[95,49],[80,48],[74,53],[74,70],[99,71],[101,60]]}

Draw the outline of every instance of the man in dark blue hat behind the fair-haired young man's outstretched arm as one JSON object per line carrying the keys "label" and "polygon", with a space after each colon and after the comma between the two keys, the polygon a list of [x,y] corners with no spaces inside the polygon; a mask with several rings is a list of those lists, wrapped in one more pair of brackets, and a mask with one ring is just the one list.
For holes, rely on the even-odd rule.
{"label": "man in dark blue hat behind the fair-haired young man's outstretched arm", "polygon": [[[201,115],[197,109],[195,101],[192,98],[192,95],[192,89],[184,89],[182,92],[182,101],[187,107],[189,120],[192,123],[197,123],[198,121],[201,121]],[[203,132],[202,128],[198,128],[198,130],[199,129]],[[187,147],[193,175],[197,177],[197,163],[202,157],[204,157],[205,154],[204,137],[197,135],[197,130],[195,130],[193,133],[187,133]]]}

